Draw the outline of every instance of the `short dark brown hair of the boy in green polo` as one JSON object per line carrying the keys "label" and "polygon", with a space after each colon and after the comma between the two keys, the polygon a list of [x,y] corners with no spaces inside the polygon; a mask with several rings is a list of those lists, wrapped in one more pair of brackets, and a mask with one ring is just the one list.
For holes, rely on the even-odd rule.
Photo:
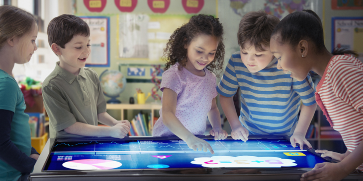
{"label": "short dark brown hair of the boy in green polo", "polygon": [[72,14],[62,14],[53,18],[48,25],[48,43],[53,43],[64,49],[75,35],[90,36],[90,27],[80,17]]}

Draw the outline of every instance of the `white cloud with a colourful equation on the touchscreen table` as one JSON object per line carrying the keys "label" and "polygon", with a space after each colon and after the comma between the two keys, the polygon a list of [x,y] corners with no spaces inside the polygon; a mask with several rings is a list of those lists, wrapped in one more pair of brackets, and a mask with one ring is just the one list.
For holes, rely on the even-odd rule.
{"label": "white cloud with a colourful equation on the touchscreen table", "polygon": [[213,156],[194,158],[190,163],[201,165],[202,167],[219,168],[219,167],[263,167],[279,168],[293,167],[297,164],[295,160],[281,159],[278,157],[255,157],[255,156]]}

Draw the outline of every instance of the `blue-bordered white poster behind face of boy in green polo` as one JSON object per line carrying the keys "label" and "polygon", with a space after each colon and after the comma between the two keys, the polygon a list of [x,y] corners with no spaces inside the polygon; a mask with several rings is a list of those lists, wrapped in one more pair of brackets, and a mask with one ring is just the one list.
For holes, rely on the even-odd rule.
{"label": "blue-bordered white poster behind face of boy in green polo", "polygon": [[109,59],[109,17],[81,16],[90,27],[91,54],[86,66],[110,66]]}

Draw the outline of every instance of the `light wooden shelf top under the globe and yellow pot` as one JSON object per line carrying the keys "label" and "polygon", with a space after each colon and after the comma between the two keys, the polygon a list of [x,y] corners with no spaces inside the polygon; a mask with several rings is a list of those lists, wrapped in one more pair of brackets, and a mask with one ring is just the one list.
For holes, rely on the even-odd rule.
{"label": "light wooden shelf top under the globe and yellow pot", "polygon": [[161,103],[149,104],[106,104],[108,110],[120,110],[121,120],[124,120],[124,110],[151,110],[151,118],[154,118],[154,111],[162,108]]}

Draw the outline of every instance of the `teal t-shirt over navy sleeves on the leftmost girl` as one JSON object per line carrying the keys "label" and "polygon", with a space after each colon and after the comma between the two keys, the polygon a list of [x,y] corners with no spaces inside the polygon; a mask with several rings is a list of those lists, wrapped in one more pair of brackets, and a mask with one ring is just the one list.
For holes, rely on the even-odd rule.
{"label": "teal t-shirt over navy sleeves on the leftmost girl", "polygon": [[[24,96],[17,82],[0,69],[0,109],[14,113],[11,121],[10,140],[20,151],[30,156],[29,116],[24,113],[25,107]],[[16,181],[20,176],[19,171],[0,160],[0,181]]]}

